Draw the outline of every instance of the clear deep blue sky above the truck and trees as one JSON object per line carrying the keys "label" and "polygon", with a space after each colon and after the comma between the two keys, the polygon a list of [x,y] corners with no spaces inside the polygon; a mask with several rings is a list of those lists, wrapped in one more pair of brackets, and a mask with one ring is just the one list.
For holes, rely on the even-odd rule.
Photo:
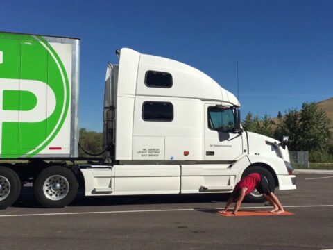
{"label": "clear deep blue sky above the truck and trees", "polygon": [[101,131],[115,49],[186,63],[276,117],[333,97],[333,1],[1,1],[0,31],[81,40],[80,127]]}

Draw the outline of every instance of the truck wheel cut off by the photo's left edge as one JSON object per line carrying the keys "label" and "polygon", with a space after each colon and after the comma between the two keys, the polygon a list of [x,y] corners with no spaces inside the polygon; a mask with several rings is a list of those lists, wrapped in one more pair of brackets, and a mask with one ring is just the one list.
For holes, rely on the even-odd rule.
{"label": "truck wheel cut off by the photo's left edge", "polygon": [[8,167],[0,167],[0,209],[7,208],[19,198],[21,181]]}

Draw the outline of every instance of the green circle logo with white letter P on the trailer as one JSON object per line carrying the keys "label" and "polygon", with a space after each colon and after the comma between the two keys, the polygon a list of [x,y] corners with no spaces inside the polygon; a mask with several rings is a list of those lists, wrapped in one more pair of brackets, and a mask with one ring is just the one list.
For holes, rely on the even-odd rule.
{"label": "green circle logo with white letter P on the trailer", "polygon": [[69,108],[69,82],[42,37],[0,33],[0,157],[31,157],[56,137]]}

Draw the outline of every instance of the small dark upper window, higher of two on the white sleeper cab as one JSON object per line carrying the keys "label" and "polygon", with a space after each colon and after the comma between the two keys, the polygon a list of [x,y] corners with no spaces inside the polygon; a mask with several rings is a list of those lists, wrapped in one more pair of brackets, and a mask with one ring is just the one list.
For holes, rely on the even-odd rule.
{"label": "small dark upper window, higher of two on the white sleeper cab", "polygon": [[171,88],[172,76],[167,72],[155,72],[149,70],[146,72],[144,84],[151,88]]}

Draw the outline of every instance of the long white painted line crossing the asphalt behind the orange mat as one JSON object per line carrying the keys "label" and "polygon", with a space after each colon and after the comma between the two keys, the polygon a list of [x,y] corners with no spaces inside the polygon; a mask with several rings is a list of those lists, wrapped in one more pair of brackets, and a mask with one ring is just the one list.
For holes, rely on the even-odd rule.
{"label": "long white painted line crossing the asphalt behind the orange mat", "polygon": [[[283,206],[284,208],[327,208],[333,205],[300,205]],[[243,207],[242,209],[269,208],[267,206]],[[180,209],[155,209],[155,210],[119,210],[119,211],[96,211],[96,212],[72,212],[72,213],[39,213],[23,215],[0,215],[0,217],[24,217],[24,216],[43,216],[43,215],[98,215],[110,213],[151,213],[151,212],[187,212],[187,211],[205,211],[205,210],[223,210],[224,208],[180,208]]]}

